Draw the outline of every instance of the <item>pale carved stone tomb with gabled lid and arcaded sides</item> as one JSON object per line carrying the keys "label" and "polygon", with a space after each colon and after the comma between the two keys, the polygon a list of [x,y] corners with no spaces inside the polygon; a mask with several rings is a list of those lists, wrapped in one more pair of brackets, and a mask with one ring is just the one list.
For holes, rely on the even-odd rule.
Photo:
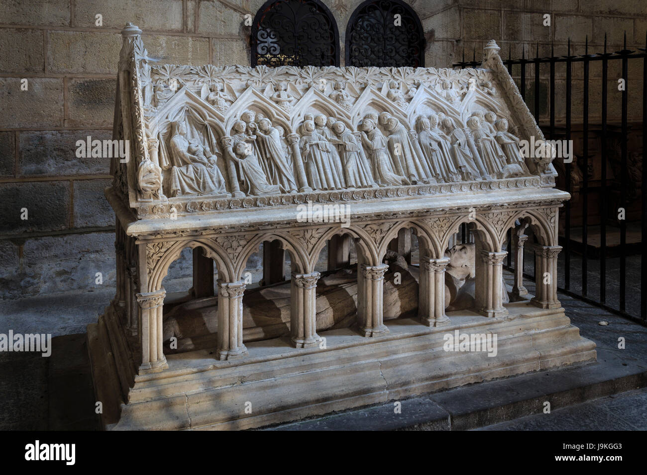
{"label": "pale carved stone tomb with gabled lid and arcaded sides", "polygon": [[[117,291],[88,326],[105,428],[261,427],[595,360],[556,293],[558,209],[569,195],[554,187],[551,154],[520,153],[520,140],[543,136],[494,41],[479,69],[252,69],[161,65],[140,34],[122,32],[114,138],[130,154],[113,161],[105,191]],[[347,220],[299,218],[314,205]],[[463,223],[471,264],[455,246]],[[519,265],[529,228],[536,295]],[[419,265],[399,262],[415,275],[417,304],[407,297],[400,313],[388,303],[399,291],[388,255],[408,255],[411,233]],[[255,305],[245,291],[247,259],[263,243],[263,284],[280,294],[285,319],[263,310],[277,306],[270,291],[255,290],[267,300]],[[193,287],[178,306],[162,281],[184,248]],[[322,295],[318,282],[335,269],[352,291],[333,279]],[[470,306],[452,310],[468,274]],[[201,345],[170,351],[171,306],[178,325],[204,310]],[[345,324],[318,319],[323,309]],[[496,352],[454,351],[463,348],[446,336],[457,334],[496,337]]]}

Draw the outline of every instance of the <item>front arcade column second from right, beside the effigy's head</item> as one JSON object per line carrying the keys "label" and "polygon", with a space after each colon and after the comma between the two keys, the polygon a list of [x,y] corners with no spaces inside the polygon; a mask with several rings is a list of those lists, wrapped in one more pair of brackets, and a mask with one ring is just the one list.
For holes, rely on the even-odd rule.
{"label": "front arcade column second from right, beside the effigy's head", "polygon": [[507,252],[488,252],[481,250],[481,271],[477,269],[477,305],[486,317],[507,315],[503,306],[503,259]]}

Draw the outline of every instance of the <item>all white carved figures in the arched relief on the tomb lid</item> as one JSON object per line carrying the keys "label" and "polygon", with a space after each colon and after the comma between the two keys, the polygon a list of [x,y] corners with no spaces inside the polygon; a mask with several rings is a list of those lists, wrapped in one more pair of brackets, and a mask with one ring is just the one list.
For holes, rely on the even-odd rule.
{"label": "all white carved figures in the arched relief on the tomb lid", "polygon": [[[272,100],[287,101],[278,89]],[[344,105],[344,92],[335,89]],[[208,100],[225,105],[216,87]],[[399,100],[395,92],[389,97]],[[224,107],[224,106],[223,106]],[[304,190],[336,190],[388,185],[494,180],[528,175],[519,139],[506,118],[477,111],[458,127],[443,112],[418,116],[415,130],[389,112],[369,112],[357,130],[334,117],[306,113],[298,133],[261,112],[245,111],[221,138],[226,167],[214,151],[187,138],[186,123],[173,121],[170,133],[169,196],[239,193],[276,195]],[[230,167],[231,165],[231,167]],[[230,169],[227,181],[221,172]],[[240,196],[240,195],[239,195]]]}

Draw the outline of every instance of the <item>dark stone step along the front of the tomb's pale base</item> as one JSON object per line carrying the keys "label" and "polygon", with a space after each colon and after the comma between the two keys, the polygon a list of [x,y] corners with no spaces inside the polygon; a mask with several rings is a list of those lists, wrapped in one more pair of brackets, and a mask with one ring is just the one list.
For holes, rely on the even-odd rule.
{"label": "dark stone step along the front of the tomb's pale base", "polygon": [[[261,430],[468,430],[647,386],[647,363],[597,348],[593,364],[523,374]],[[575,429],[577,427],[574,427]]]}

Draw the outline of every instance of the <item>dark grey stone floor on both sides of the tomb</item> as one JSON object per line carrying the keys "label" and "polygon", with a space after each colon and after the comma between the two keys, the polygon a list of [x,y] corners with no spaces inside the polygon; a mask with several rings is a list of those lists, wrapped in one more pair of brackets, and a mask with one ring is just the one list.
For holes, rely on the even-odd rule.
{"label": "dark grey stone floor on both sides of the tomb", "polygon": [[[528,287],[532,291],[532,286]],[[54,336],[49,358],[34,353],[0,353],[0,430],[96,428],[83,332],[111,297],[112,291],[107,289],[0,302],[0,332],[12,328],[14,332]],[[632,361],[647,361],[647,328],[566,295],[560,295],[560,301],[580,333],[595,341],[598,348]],[[600,321],[608,325],[601,326]],[[619,337],[625,340],[624,350],[618,348]],[[483,429],[645,429],[646,405],[647,392],[642,389],[556,410],[548,417],[522,417]]]}

